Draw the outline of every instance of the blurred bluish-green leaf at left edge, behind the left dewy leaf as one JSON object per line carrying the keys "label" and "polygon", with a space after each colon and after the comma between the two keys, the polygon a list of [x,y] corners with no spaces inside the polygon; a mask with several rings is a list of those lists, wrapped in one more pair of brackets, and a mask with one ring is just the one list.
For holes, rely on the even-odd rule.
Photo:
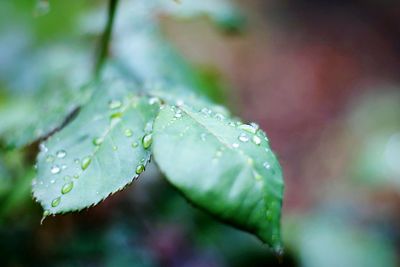
{"label": "blurred bluish-green leaf at left edge, behind the left dewy leaf", "polygon": [[0,104],[0,135],[10,147],[25,146],[55,131],[91,95],[91,84],[84,85],[90,77],[89,57],[81,47],[46,48],[21,59],[26,66],[17,69],[19,78],[14,74],[12,82],[6,81],[11,92],[6,104]]}

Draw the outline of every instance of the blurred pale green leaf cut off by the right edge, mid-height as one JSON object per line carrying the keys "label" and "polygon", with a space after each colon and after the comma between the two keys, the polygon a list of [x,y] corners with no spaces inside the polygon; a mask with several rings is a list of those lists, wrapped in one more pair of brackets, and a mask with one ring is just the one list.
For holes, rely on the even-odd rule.
{"label": "blurred pale green leaf cut off by the right edge, mid-height", "polygon": [[400,94],[383,88],[352,105],[349,128],[358,144],[351,165],[365,184],[400,186]]}

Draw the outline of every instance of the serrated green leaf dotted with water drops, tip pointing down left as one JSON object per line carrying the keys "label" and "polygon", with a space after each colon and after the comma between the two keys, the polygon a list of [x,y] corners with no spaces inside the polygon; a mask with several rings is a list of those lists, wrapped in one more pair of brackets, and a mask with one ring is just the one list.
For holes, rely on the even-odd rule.
{"label": "serrated green leaf dotted with water drops, tip pointing down left", "polygon": [[150,160],[159,109],[124,84],[104,84],[81,113],[41,145],[34,197],[45,215],[81,210],[122,189]]}

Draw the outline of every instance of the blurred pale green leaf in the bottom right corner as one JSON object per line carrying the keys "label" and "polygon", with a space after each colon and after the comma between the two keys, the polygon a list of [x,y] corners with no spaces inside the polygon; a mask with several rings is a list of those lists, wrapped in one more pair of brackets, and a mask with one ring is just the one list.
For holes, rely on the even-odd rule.
{"label": "blurred pale green leaf in the bottom right corner", "polygon": [[390,242],[337,218],[310,218],[299,224],[298,249],[304,267],[397,266]]}

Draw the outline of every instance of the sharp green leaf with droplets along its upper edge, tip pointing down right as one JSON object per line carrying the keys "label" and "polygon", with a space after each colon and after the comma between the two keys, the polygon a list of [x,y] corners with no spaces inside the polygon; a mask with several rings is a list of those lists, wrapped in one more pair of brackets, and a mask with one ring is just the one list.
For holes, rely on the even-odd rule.
{"label": "sharp green leaf with droplets along its upper edge, tip pointing down right", "polygon": [[155,161],[188,200],[281,252],[282,172],[257,126],[165,106],[153,136]]}

